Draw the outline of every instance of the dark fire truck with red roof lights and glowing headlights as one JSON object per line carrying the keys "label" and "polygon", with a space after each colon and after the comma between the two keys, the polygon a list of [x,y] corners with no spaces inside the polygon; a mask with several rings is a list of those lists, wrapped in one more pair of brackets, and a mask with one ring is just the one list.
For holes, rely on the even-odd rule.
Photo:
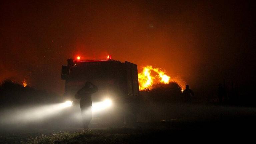
{"label": "dark fire truck with red roof lights and glowing headlights", "polygon": [[81,60],[78,56],[62,65],[61,79],[65,80],[64,96],[73,101],[73,105],[79,105],[74,95],[87,81],[98,87],[98,91],[92,94],[93,106],[106,98],[112,101],[112,109],[93,114],[93,118],[127,124],[136,121],[139,97],[136,64],[113,60],[109,55],[105,60]]}

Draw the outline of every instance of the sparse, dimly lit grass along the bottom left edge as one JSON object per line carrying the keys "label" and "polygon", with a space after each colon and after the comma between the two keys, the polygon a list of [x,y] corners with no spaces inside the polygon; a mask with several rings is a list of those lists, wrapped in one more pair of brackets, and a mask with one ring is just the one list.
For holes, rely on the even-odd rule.
{"label": "sparse, dimly lit grass along the bottom left edge", "polygon": [[[157,138],[167,137],[167,129],[142,129],[142,128],[108,128],[105,130],[88,131],[59,131],[50,134],[40,134],[26,137],[22,134],[0,138],[1,143],[21,144],[117,144],[117,143],[145,143],[153,142]],[[27,135],[28,136],[28,135]]]}

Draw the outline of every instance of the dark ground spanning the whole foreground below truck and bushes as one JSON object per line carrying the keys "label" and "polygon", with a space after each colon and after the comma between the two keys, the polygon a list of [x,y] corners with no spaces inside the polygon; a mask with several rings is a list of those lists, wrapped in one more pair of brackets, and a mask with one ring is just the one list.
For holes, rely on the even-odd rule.
{"label": "dark ground spanning the whole foreground below truck and bushes", "polygon": [[[2,124],[0,144],[176,143],[177,140],[206,143],[224,139],[229,142],[242,139],[244,143],[254,138],[255,107],[157,103],[143,107],[146,109],[140,109],[138,122],[133,125],[103,126],[93,125],[92,121],[88,131],[79,125],[68,126],[72,121],[59,115],[38,127],[31,124],[21,126],[21,123],[12,126]],[[80,113],[79,108],[77,111]],[[70,117],[72,111],[66,112]],[[54,127],[65,119],[67,123]]]}

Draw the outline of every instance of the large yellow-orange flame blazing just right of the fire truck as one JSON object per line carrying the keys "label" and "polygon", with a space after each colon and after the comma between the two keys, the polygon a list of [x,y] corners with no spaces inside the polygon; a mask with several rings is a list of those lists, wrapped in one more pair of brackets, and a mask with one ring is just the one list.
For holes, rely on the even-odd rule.
{"label": "large yellow-orange flame blazing just right of the fire truck", "polygon": [[[152,74],[155,73],[155,75]],[[182,80],[180,77],[171,78],[170,76],[166,75],[165,71],[161,68],[153,68],[152,66],[145,66],[141,73],[138,73],[139,79],[139,90],[145,89],[152,89],[152,85],[156,83],[164,83],[168,84],[169,82],[173,81],[180,85],[182,91],[185,88],[185,81]]]}

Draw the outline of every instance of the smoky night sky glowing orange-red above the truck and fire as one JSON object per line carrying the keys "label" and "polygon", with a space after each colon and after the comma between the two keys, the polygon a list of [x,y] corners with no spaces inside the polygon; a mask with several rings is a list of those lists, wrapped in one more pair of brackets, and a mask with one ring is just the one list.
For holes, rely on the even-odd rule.
{"label": "smoky night sky glowing orange-red above the truck and fire", "polygon": [[164,68],[191,88],[255,83],[255,4],[248,1],[1,1],[0,79],[62,94],[78,54]]}

